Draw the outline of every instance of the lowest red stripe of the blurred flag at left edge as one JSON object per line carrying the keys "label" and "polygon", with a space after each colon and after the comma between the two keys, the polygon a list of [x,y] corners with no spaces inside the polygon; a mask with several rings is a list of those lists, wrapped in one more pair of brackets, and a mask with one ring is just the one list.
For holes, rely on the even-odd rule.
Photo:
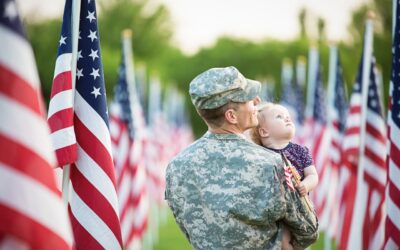
{"label": "lowest red stripe of the blurred flag at left edge", "polygon": [[38,221],[0,203],[0,235],[11,234],[29,244],[29,249],[69,249],[65,239]]}

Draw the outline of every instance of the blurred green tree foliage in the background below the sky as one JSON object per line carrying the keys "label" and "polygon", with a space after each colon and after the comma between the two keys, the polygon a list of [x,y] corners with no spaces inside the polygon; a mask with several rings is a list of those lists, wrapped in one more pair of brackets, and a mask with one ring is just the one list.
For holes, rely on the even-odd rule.
{"label": "blurred green tree foliage in the background below the sky", "polygon": [[[150,7],[149,7],[150,6]],[[372,4],[356,9],[349,28],[351,39],[338,44],[348,94],[356,78],[361,59],[362,36],[365,16],[374,10],[375,38],[374,51],[384,83],[384,103],[387,103],[388,82],[391,70],[391,4],[389,0],[374,0]],[[200,136],[206,131],[204,122],[191,105],[188,95],[190,81],[210,67],[236,66],[246,77],[264,80],[274,79],[275,101],[281,96],[281,65],[284,58],[295,62],[297,57],[308,55],[310,41],[307,38],[307,10],[299,14],[299,38],[292,41],[266,39],[249,41],[240,38],[221,37],[208,48],[200,49],[195,55],[185,55],[172,42],[172,22],[163,5],[155,6],[145,0],[100,1],[98,25],[101,40],[104,77],[108,97],[113,95],[117,70],[121,57],[121,32],[133,31],[132,46],[136,65],[144,64],[149,75],[158,75],[164,88],[177,86],[185,93],[194,132]],[[325,22],[318,19],[318,50],[322,63],[323,79],[328,79],[329,48],[325,41]],[[28,36],[35,52],[44,97],[49,98],[53,79],[57,45],[60,37],[61,20],[45,20],[28,23]],[[45,35],[43,35],[45,34]]]}

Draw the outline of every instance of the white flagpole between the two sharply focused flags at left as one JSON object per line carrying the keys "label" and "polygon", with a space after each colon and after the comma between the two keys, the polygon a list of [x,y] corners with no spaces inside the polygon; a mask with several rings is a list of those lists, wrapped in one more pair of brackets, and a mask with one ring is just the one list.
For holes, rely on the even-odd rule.
{"label": "white flagpole between the two sharply focused flags at left", "polygon": [[[74,103],[75,97],[75,81],[76,81],[76,64],[78,56],[78,37],[79,37],[79,17],[81,12],[81,1],[72,0],[72,57],[71,57],[71,80],[72,80],[72,92],[71,95],[72,103]],[[68,207],[69,200],[69,176],[70,176],[71,165],[67,164],[63,167],[63,180],[62,180],[62,200],[66,207]]]}

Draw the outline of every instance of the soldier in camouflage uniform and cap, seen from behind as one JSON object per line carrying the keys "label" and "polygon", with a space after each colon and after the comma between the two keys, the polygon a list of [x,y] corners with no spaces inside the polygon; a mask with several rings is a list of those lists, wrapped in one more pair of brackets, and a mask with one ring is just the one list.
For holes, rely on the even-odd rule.
{"label": "soldier in camouflage uniform and cap, seen from behind", "polygon": [[315,213],[286,184],[279,154],[249,142],[258,124],[260,83],[235,67],[212,68],[189,93],[208,131],[167,168],[165,198],[194,249],[294,248],[318,238]]}

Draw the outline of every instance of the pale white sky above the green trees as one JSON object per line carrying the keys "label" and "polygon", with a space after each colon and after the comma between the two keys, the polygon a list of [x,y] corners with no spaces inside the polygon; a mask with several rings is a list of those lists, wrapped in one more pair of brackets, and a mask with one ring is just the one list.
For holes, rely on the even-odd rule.
{"label": "pale white sky above the green trees", "polygon": [[[165,4],[174,24],[174,42],[184,52],[212,46],[223,35],[261,40],[291,39],[299,34],[298,13],[308,9],[308,25],[316,34],[318,17],[326,21],[329,40],[347,39],[351,12],[368,0],[150,0]],[[17,0],[22,16],[60,17],[63,0]]]}

